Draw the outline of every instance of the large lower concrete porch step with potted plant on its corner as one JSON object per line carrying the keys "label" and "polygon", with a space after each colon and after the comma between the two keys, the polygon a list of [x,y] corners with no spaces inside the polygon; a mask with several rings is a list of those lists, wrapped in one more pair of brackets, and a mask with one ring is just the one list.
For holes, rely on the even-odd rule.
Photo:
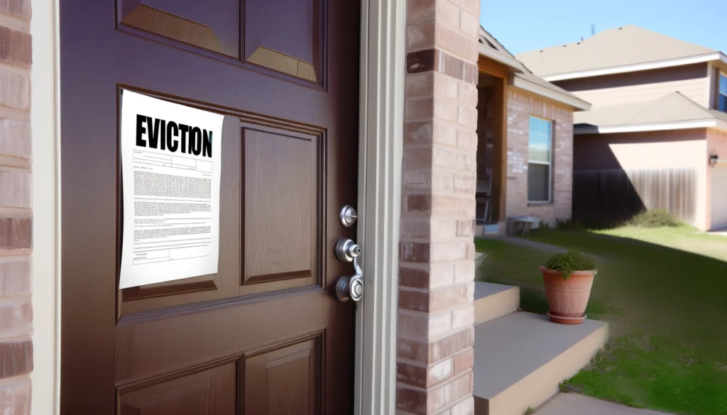
{"label": "large lower concrete porch step with potted plant on its corner", "polygon": [[476,415],[523,415],[558,392],[608,339],[608,323],[577,326],[512,313],[475,327]]}

